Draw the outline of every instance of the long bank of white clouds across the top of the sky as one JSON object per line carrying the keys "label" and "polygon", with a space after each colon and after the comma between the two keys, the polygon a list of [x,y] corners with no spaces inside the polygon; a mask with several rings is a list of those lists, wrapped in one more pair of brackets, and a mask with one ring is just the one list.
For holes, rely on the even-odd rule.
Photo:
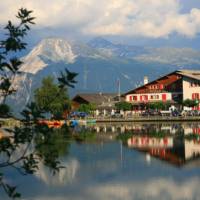
{"label": "long bank of white clouds across the top of the sky", "polygon": [[0,23],[13,19],[22,6],[34,10],[39,27],[71,27],[84,34],[160,38],[200,32],[200,9],[183,14],[180,0],[6,0]]}

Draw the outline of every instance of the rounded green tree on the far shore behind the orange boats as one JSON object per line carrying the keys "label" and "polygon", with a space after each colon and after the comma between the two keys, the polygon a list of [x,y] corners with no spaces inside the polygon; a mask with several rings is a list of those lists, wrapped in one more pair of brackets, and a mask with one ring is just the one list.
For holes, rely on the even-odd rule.
{"label": "rounded green tree on the far shore behind the orange boats", "polygon": [[35,90],[34,97],[38,108],[54,118],[62,118],[66,108],[70,108],[66,87],[59,87],[50,76],[43,79],[42,86]]}

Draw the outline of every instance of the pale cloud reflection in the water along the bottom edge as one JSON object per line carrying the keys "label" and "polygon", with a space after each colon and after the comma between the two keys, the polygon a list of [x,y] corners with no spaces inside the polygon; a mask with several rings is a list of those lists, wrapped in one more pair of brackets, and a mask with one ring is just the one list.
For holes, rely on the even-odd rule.
{"label": "pale cloud reflection in the water along the bottom edge", "polygon": [[[158,178],[146,182],[112,183],[88,188],[88,199],[197,199],[199,179],[183,183],[172,179]],[[181,191],[181,192],[180,192]],[[92,197],[92,198],[91,198]]]}

